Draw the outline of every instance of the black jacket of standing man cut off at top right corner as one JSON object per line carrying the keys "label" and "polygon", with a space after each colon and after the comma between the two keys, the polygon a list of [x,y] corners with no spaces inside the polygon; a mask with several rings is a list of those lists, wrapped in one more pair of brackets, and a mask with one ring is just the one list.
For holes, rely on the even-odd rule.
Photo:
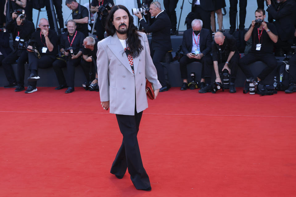
{"label": "black jacket of standing man cut off at top right corner", "polygon": [[[296,11],[296,3],[294,0],[287,0],[286,2],[277,4],[272,3],[272,6],[267,8],[268,12],[268,21],[275,21],[273,24],[278,30],[278,36],[280,40],[287,41],[294,38],[294,23],[295,23],[295,11]],[[277,8],[279,6],[279,10]]]}

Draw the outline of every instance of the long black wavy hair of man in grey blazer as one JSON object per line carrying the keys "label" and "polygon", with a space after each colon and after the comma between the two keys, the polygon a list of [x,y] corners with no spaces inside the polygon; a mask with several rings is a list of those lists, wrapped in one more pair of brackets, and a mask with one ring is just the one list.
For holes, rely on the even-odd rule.
{"label": "long black wavy hair of man in grey blazer", "polygon": [[129,54],[131,54],[133,58],[138,57],[141,51],[144,49],[144,47],[141,45],[141,40],[139,38],[140,36],[137,32],[138,30],[136,30],[136,27],[134,26],[134,17],[130,15],[129,10],[125,6],[117,5],[111,9],[107,17],[107,22],[105,27],[106,32],[108,35],[111,35],[111,36],[113,36],[116,33],[116,29],[115,29],[115,26],[112,24],[112,21],[113,21],[114,13],[116,12],[116,10],[119,10],[119,9],[126,11],[129,17],[129,27],[127,29],[127,39],[126,39],[126,45],[130,47]]}

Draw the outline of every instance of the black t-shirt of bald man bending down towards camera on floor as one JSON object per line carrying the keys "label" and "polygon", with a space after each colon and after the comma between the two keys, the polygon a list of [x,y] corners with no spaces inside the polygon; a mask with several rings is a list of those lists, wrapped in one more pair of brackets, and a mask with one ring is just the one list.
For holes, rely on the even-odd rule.
{"label": "black t-shirt of bald man bending down towards camera on floor", "polygon": [[224,33],[224,35],[225,35],[225,39],[224,39],[223,45],[219,46],[218,44],[216,44],[215,40],[213,40],[212,42],[213,61],[220,60],[219,49],[221,49],[221,54],[227,57],[231,51],[237,51],[235,38],[232,35],[227,33]]}

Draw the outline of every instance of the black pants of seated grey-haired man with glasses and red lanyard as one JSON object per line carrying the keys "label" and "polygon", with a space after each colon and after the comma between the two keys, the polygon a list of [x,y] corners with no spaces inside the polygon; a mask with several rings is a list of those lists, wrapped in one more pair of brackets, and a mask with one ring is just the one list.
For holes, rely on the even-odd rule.
{"label": "black pants of seated grey-haired man with glasses and red lanyard", "polygon": [[[68,84],[69,87],[74,88],[75,67],[80,64],[80,61],[81,56],[77,59],[68,59],[66,62],[57,59],[52,63],[59,85]],[[63,67],[67,67],[67,82],[62,70]]]}

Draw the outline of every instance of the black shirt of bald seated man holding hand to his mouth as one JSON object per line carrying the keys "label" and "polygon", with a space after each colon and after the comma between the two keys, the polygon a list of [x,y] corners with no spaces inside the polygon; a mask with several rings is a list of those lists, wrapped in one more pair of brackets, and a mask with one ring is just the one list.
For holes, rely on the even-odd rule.
{"label": "black shirt of bald seated man holding hand to his mouth", "polygon": [[[48,50],[48,48],[46,46],[44,35],[41,34],[41,38],[40,38],[40,30],[35,31],[31,36],[31,39],[33,39],[35,41],[35,46],[37,47],[37,50],[39,51],[40,55],[56,55],[56,54],[58,54],[58,46],[56,45],[56,43],[58,42],[58,36],[54,30],[48,31],[48,38],[49,38],[49,41],[51,42],[51,44],[53,45],[53,50],[51,52]],[[47,48],[46,53],[42,53],[43,47]]]}

